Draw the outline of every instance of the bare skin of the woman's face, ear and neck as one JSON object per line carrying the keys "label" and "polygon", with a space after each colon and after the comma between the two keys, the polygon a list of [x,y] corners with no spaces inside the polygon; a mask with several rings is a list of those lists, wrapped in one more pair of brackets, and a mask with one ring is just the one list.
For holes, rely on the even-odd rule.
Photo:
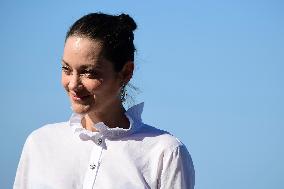
{"label": "bare skin of the woman's face, ear and neck", "polygon": [[120,100],[123,84],[132,77],[134,64],[127,62],[120,72],[102,56],[99,40],[70,36],[62,57],[61,83],[74,112],[82,114],[82,126],[96,131],[94,124],[104,122],[108,127],[129,128]]}

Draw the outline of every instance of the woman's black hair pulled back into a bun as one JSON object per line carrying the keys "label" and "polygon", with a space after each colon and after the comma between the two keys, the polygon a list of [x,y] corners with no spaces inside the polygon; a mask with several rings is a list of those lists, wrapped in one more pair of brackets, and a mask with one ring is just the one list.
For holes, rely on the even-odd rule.
{"label": "woman's black hair pulled back into a bun", "polygon": [[134,61],[136,49],[133,31],[136,28],[135,21],[127,14],[90,13],[70,27],[65,41],[70,36],[99,41],[102,45],[102,56],[112,62],[114,70],[119,72],[126,62]]}

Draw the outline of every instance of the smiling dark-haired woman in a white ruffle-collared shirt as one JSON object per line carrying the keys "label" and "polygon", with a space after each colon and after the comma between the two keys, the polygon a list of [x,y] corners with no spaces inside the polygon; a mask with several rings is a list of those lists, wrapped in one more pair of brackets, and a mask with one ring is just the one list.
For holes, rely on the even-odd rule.
{"label": "smiling dark-haired woman in a white ruffle-collared shirt", "polygon": [[143,104],[123,108],[135,29],[126,14],[92,13],[71,26],[62,85],[74,113],[29,135],[14,189],[194,188],[186,147],[144,124]]}

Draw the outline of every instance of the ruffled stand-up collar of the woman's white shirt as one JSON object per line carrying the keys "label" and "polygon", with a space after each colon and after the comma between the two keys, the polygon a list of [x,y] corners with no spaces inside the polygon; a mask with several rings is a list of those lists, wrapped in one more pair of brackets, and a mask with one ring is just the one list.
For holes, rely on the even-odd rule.
{"label": "ruffled stand-up collar of the woman's white shirt", "polygon": [[92,132],[83,128],[81,124],[82,115],[73,113],[69,125],[72,131],[78,135],[82,140],[97,140],[98,138],[119,139],[125,136],[129,136],[141,127],[141,114],[143,112],[144,103],[137,104],[129,108],[125,115],[127,116],[130,127],[128,129],[123,128],[109,128],[103,122],[99,122],[93,125],[98,132]]}

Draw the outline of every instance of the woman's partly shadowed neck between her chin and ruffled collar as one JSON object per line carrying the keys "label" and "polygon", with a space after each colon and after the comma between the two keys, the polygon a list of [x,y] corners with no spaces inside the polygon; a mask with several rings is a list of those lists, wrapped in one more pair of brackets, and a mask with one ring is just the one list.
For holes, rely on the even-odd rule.
{"label": "woman's partly shadowed neck between her chin and ruffled collar", "polygon": [[82,119],[82,126],[92,132],[96,132],[93,127],[96,123],[103,122],[109,128],[129,128],[129,120],[125,115],[125,109],[122,104],[107,108],[106,111],[91,111]]}

